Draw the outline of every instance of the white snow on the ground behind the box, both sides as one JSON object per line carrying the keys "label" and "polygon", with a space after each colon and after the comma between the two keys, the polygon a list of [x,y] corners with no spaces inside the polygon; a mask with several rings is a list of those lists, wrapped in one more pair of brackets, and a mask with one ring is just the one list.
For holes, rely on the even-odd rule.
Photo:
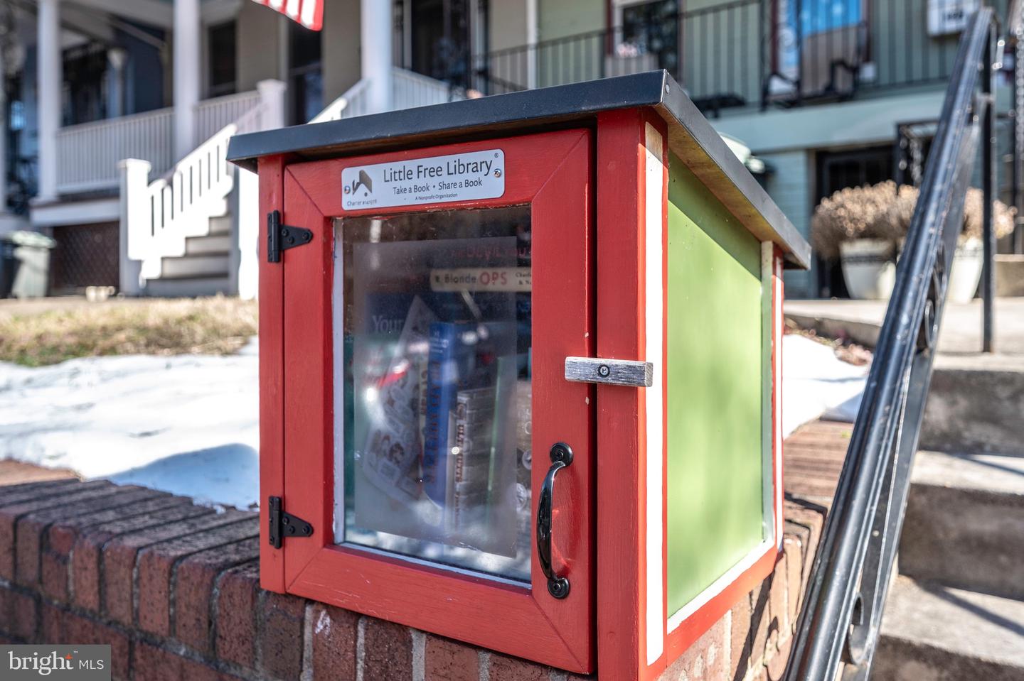
{"label": "white snow on the ground behind the box, both sides", "polygon": [[[0,362],[0,459],[246,508],[259,490],[256,352]],[[822,414],[853,420],[866,367],[800,335],[782,363],[785,435]]]}

